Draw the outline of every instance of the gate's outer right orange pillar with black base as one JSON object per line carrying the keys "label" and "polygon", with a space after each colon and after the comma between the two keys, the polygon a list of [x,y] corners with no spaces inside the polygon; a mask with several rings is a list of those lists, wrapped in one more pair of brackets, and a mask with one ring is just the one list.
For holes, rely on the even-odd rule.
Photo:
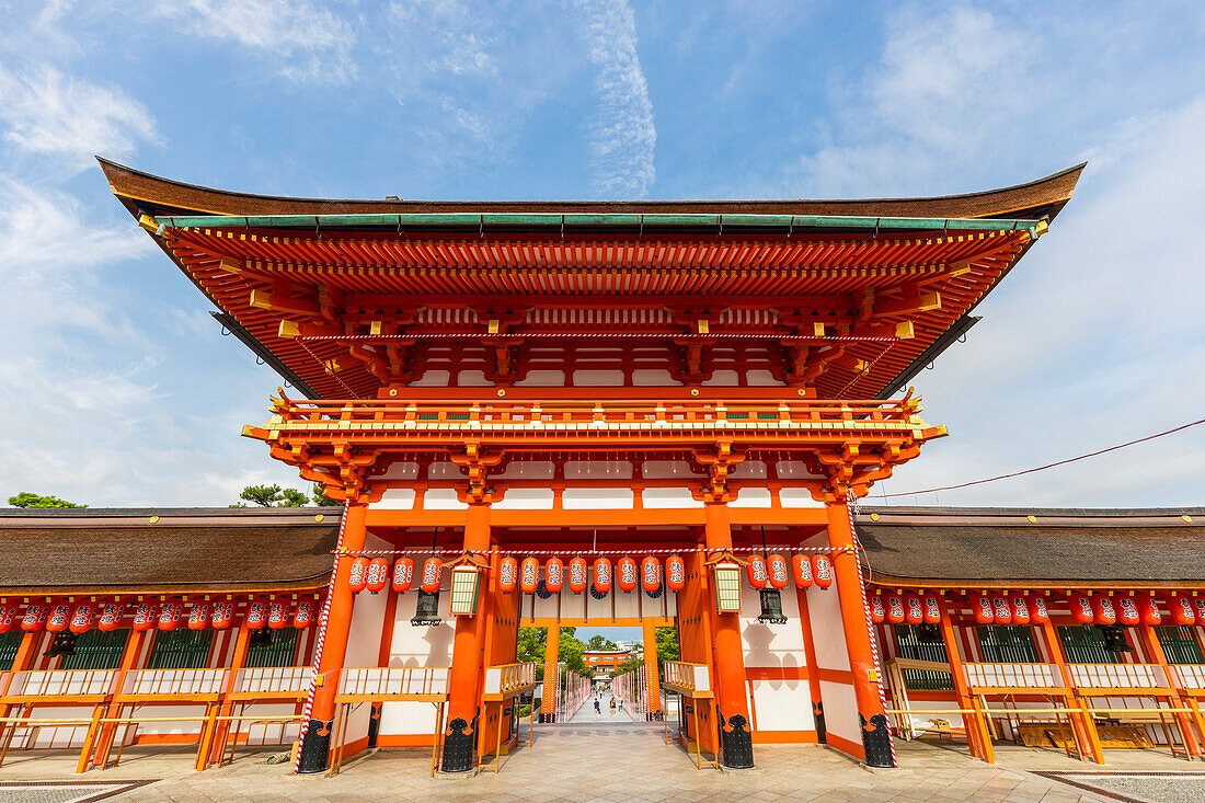
{"label": "gate's outer right orange pillar with black base", "polygon": [[853,694],[858,703],[862,725],[862,745],[866,764],[870,767],[894,767],[892,737],[887,729],[887,714],[878,691],[878,668],[875,662],[870,626],[866,621],[866,603],[858,574],[858,556],[854,545],[850,508],[842,499],[829,502],[829,546],[833,552],[833,572],[836,575],[836,592],[841,600],[841,627],[850,652],[850,670],[853,674]]}

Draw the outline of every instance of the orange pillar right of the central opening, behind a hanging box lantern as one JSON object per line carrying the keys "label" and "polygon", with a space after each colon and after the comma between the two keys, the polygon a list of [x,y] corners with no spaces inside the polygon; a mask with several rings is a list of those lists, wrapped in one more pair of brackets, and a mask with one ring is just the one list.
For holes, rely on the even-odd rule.
{"label": "orange pillar right of the central opening, behind a hanging box lantern", "polygon": [[[727,550],[733,545],[728,505],[709,503],[705,538],[707,550]],[[709,582],[710,582],[709,578]],[[716,704],[719,709],[719,744],[723,764],[733,768],[753,766],[753,734],[750,732],[748,698],[745,696],[745,646],[741,644],[739,614],[721,614],[715,597],[712,609],[712,663],[716,667]],[[699,702],[695,701],[695,705]]]}

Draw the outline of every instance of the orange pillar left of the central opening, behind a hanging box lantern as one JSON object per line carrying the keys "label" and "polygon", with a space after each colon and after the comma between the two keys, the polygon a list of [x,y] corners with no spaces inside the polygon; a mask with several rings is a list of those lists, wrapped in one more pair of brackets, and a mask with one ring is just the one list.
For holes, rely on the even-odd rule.
{"label": "orange pillar left of the central opening, behind a hanging box lantern", "polygon": [[[471,504],[464,523],[464,549],[489,549],[489,505]],[[486,582],[482,581],[482,586]],[[457,616],[452,641],[452,669],[448,676],[448,726],[443,740],[443,772],[464,773],[474,766],[474,743],[481,713],[481,684],[484,635],[488,615],[486,594],[477,600],[474,616]]]}

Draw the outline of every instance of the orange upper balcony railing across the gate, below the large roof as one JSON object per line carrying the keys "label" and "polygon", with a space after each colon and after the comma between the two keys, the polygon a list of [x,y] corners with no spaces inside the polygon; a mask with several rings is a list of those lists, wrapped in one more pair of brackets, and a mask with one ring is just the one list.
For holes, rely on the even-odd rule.
{"label": "orange upper balcony railing across the gate, below the large roof", "polygon": [[[777,394],[775,394],[777,395]],[[911,429],[912,400],[829,402],[817,399],[731,402],[463,399],[274,399],[269,430],[460,430],[460,429]]]}

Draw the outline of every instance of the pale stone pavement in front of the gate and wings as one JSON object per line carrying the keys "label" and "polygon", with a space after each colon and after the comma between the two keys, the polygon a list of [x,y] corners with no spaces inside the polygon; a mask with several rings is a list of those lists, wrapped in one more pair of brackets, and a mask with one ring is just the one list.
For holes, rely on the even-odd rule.
{"label": "pale stone pavement in front of the gate and wings", "polygon": [[[502,760],[498,775],[429,778],[430,754],[419,749],[386,749],[343,766],[336,778],[294,776],[289,766],[263,763],[269,754],[240,754],[229,767],[192,772],[193,749],[130,748],[119,767],[93,772],[83,783],[92,790],[67,796],[47,787],[16,787],[31,780],[80,783],[70,773],[75,756],[66,751],[12,752],[0,768],[0,803],[8,801],[976,801],[982,803],[1105,803],[1117,797],[1095,795],[1060,783],[1046,773],[1083,773],[1091,767],[1053,750],[998,746],[999,764],[972,761],[959,748],[901,743],[900,769],[866,769],[819,745],[758,745],[758,768],[742,772],[696,770],[694,760],[676,744],[666,745],[659,723],[615,722],[536,727],[534,746]],[[1115,750],[1110,769],[1157,770],[1177,775],[1144,783],[1133,776],[1116,792],[1152,801],[1200,799],[1180,785],[1201,764],[1174,760],[1158,751]],[[1076,775],[1091,786],[1091,778]],[[153,781],[131,786],[131,781]],[[1118,779],[1121,780],[1121,779]],[[112,785],[112,786],[110,786]],[[124,791],[122,791],[124,787]],[[1200,789],[1199,786],[1195,789]],[[1145,790],[1145,791],[1144,791]],[[1187,790],[1187,791],[1186,791]],[[1147,795],[1146,792],[1150,792]],[[1123,798],[1124,799],[1124,798]]]}

